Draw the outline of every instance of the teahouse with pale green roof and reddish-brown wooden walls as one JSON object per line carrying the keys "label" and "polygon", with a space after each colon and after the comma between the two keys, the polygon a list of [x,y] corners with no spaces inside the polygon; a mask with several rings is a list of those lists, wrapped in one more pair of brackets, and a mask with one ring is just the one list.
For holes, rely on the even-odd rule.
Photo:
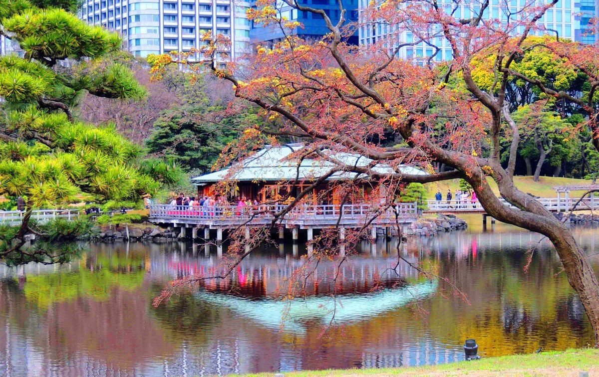
{"label": "teahouse with pale green roof and reddish-brown wooden walls", "polygon": [[[288,157],[302,148],[304,148],[304,144],[267,145],[264,149],[247,159],[240,168],[235,168],[234,171],[228,168],[201,175],[192,178],[192,183],[198,187],[198,196],[210,196],[213,194],[214,184],[225,178],[229,178],[237,181],[237,196],[244,196],[265,202],[266,200],[285,196],[293,187],[294,181],[297,180],[298,184],[295,186],[295,192],[291,193],[291,196],[296,197],[304,188],[310,186],[315,180],[322,177],[322,175],[335,166],[332,162],[322,159],[311,159],[309,157],[303,159],[298,166],[299,162],[296,159]],[[329,156],[347,165],[368,166],[373,161],[359,154],[332,151],[328,153]],[[376,165],[373,170],[383,173],[393,172],[390,166],[382,164]],[[397,170],[400,170],[403,174],[410,175],[426,174],[426,172],[418,168],[407,165],[401,165]],[[340,199],[335,194],[335,188],[331,190],[330,187],[332,181],[353,180],[356,177],[359,178],[359,175],[349,172],[338,172],[332,175],[325,183],[320,184],[313,191],[311,200],[314,203],[338,204]],[[351,202],[364,202],[372,189],[372,185],[367,183],[361,184],[359,187],[359,192],[356,192],[354,197],[350,198]]]}

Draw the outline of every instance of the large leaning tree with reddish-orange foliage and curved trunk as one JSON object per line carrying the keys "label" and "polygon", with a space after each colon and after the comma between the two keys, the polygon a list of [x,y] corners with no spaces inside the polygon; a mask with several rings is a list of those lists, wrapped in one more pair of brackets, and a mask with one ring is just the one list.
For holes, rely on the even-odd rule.
{"label": "large leaning tree with reddish-orange foliage and curved trunk", "polygon": [[[341,19],[337,22],[323,10],[291,0],[283,2],[322,17],[329,34],[317,41],[302,40],[292,33],[298,26],[296,22],[282,19],[274,1],[261,0],[248,16],[255,22],[281,28],[285,36],[282,41],[270,47],[258,46],[256,54],[225,64],[220,51],[228,39],[206,35],[209,43],[199,50],[154,57],[153,74],[159,77],[161,69],[173,63],[187,64],[192,71],[209,67],[218,77],[234,84],[237,98],[262,108],[270,118],[282,120],[277,127],[265,123],[248,129],[247,138],[240,140],[236,151],[255,145],[247,139],[259,144],[276,143],[281,135],[301,138],[307,147],[295,154],[296,159],[310,154],[311,158],[334,165],[323,177],[335,171],[353,172],[390,187],[371,196],[377,206],[392,206],[395,188],[401,184],[466,180],[489,215],[541,233],[552,242],[592,324],[595,346],[599,346],[599,284],[589,260],[571,230],[513,183],[518,147],[524,142],[512,118],[515,108],[510,108],[506,101],[515,81],[534,90],[538,98],[552,98],[558,104],[579,108],[586,120],[577,124],[573,132],[589,130],[592,144],[599,148],[597,46],[564,41],[555,33],[542,41],[529,38],[534,32],[544,32],[539,20],[557,0],[541,5],[527,1],[520,11],[505,15],[507,22],[483,17],[489,10],[488,1],[477,3],[476,8],[462,1],[444,4],[435,0],[373,1],[362,10],[362,21],[384,23],[391,31],[388,37],[359,47],[344,43],[355,29],[343,26],[345,11],[341,5]],[[470,18],[456,16],[456,8],[462,6],[475,10]],[[401,36],[406,32],[413,35],[413,40],[397,42],[403,40]],[[450,47],[452,60],[435,59],[442,52],[435,43],[437,40]],[[402,48],[412,48],[421,42],[434,49],[432,56],[398,58]],[[549,85],[540,80],[534,70],[522,63],[523,56],[531,50],[547,54],[556,64],[555,72],[573,72],[564,80],[583,74],[586,80],[583,89],[570,93],[562,90],[561,82],[553,80]],[[194,54],[200,54],[202,59],[190,60]],[[393,147],[372,142],[373,136],[382,135],[398,135],[403,142]],[[505,166],[501,164],[502,138],[509,140]],[[373,163],[355,166],[325,151],[358,153]],[[403,163],[421,166],[430,174],[402,174],[398,166]],[[374,169],[379,165],[391,166],[394,172],[383,174]],[[439,165],[451,169],[435,172],[432,167]],[[488,178],[497,184],[501,197],[512,206],[493,193]],[[350,190],[351,184],[342,185]],[[301,200],[298,195],[290,206]],[[371,215],[378,214],[373,211]],[[323,234],[337,236],[327,231]],[[356,239],[359,235],[353,238]],[[320,255],[328,253],[327,257],[332,257],[331,249],[338,250],[343,243],[319,241],[325,245]],[[241,242],[238,244],[241,251],[235,263],[249,253],[247,249],[243,252]],[[167,296],[168,289],[158,302]]]}

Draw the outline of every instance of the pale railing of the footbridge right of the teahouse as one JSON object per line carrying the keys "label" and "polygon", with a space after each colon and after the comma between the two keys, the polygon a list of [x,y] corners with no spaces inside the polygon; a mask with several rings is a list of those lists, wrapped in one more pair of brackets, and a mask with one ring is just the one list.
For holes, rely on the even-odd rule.
{"label": "pale railing of the footbridge right of the teahouse", "polygon": [[[547,210],[549,211],[570,211],[578,202],[579,197],[541,197],[538,200]],[[505,199],[499,199],[506,205],[509,205],[512,208],[515,206],[507,203]],[[531,197],[531,200],[534,200]],[[484,212],[485,209],[482,208],[478,200],[426,200],[426,205],[428,209],[424,212]],[[585,197],[577,206],[576,209],[580,211],[590,211],[599,209],[599,198],[595,198],[593,196]]]}

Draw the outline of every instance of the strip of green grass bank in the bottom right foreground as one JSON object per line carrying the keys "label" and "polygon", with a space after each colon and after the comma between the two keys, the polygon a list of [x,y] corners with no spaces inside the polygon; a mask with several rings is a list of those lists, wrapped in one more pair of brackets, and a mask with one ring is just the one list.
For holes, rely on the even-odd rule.
{"label": "strip of green grass bank in the bottom right foreground", "polygon": [[[589,372],[590,376],[599,375],[599,350],[568,349],[424,367],[319,370],[285,373],[285,376],[578,376],[582,371]],[[256,376],[272,376],[272,373]]]}

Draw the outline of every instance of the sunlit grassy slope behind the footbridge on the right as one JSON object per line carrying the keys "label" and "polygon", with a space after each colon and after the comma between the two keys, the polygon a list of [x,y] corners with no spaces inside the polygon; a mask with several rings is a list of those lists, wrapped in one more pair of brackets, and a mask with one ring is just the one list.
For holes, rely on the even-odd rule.
{"label": "sunlit grassy slope behind the footbridge on the right", "polygon": [[[591,184],[591,180],[577,180],[574,178],[562,178],[562,177],[539,177],[539,182],[533,181],[533,176],[516,176],[514,177],[514,184],[520,190],[525,193],[531,193],[540,197],[557,197],[555,190],[553,187],[555,186],[565,186],[570,184]],[[499,190],[497,190],[497,184],[494,181],[489,179],[489,184],[493,188],[496,194],[499,194]],[[434,200],[435,193],[437,193],[437,189],[441,190],[441,194],[443,194],[443,199],[445,199],[445,195],[447,194],[447,188],[449,188],[452,194],[455,194],[455,190],[459,187],[459,180],[450,180],[443,182],[434,182],[427,183],[426,188],[428,189],[428,199]],[[570,197],[576,197],[577,195],[583,193],[584,191],[570,191]]]}

